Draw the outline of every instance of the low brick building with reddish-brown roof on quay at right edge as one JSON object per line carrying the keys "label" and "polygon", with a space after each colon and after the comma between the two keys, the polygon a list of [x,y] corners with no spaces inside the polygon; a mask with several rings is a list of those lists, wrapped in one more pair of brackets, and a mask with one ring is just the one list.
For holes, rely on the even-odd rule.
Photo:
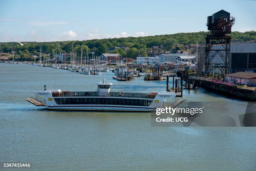
{"label": "low brick building with reddish-brown roof on quay at right edge", "polygon": [[256,73],[253,72],[236,72],[225,75],[226,82],[232,82],[240,85],[256,86]]}

